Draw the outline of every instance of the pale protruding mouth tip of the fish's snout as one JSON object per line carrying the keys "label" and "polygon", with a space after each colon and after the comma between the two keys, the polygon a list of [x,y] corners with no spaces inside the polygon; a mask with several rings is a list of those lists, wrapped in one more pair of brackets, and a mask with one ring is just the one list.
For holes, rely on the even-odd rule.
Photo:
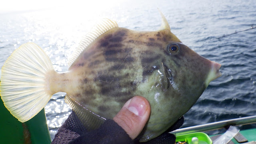
{"label": "pale protruding mouth tip of the fish's snout", "polygon": [[212,80],[216,80],[218,77],[222,75],[220,72],[221,64],[213,61],[210,61],[210,64],[211,64],[211,69],[206,78],[206,82],[205,82],[206,86],[208,86]]}

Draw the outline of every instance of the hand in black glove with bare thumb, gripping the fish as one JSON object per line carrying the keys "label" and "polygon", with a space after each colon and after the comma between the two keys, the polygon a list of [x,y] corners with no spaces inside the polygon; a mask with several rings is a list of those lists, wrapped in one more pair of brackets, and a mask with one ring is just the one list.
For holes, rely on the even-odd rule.
{"label": "hand in black glove with bare thumb, gripping the fish", "polygon": [[[139,138],[136,137],[148,121],[150,110],[150,104],[146,98],[134,96],[124,104],[113,120],[106,120],[100,128],[91,131],[86,130],[75,112],[72,111],[59,128],[52,144],[138,143]],[[146,144],[174,143],[175,136],[168,132],[179,128],[183,124],[183,120],[183,117],[180,118],[174,126]]]}

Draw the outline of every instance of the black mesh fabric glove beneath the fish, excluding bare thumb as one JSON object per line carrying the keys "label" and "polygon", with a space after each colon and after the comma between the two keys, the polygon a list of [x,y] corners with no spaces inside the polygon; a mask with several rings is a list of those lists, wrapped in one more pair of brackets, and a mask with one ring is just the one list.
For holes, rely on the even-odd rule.
{"label": "black mesh fabric glove beneath the fish, excluding bare thumb", "polygon": [[[145,144],[174,144],[176,137],[168,132],[182,126],[183,116],[166,132],[145,142]],[[106,120],[100,128],[87,131],[82,122],[72,111],[68,119],[62,124],[55,135],[52,144],[137,144],[139,139],[132,140],[128,134],[114,120]]]}

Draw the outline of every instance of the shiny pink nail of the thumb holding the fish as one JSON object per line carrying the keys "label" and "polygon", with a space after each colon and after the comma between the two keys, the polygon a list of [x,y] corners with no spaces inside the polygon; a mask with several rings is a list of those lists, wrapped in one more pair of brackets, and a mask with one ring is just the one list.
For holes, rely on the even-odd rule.
{"label": "shiny pink nail of the thumb holding the fish", "polygon": [[143,116],[148,109],[148,105],[142,98],[133,97],[128,104],[127,109],[136,114],[137,116]]}

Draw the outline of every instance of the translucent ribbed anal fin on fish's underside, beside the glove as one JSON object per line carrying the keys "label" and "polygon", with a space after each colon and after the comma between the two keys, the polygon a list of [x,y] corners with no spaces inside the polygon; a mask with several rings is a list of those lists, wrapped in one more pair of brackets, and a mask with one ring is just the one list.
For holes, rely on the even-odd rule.
{"label": "translucent ribbed anal fin on fish's underside, beside the glove", "polygon": [[88,108],[78,104],[78,102],[73,100],[70,96],[68,96],[68,94],[65,96],[65,102],[74,110],[87,130],[97,129],[106,120],[105,118],[93,113]]}

